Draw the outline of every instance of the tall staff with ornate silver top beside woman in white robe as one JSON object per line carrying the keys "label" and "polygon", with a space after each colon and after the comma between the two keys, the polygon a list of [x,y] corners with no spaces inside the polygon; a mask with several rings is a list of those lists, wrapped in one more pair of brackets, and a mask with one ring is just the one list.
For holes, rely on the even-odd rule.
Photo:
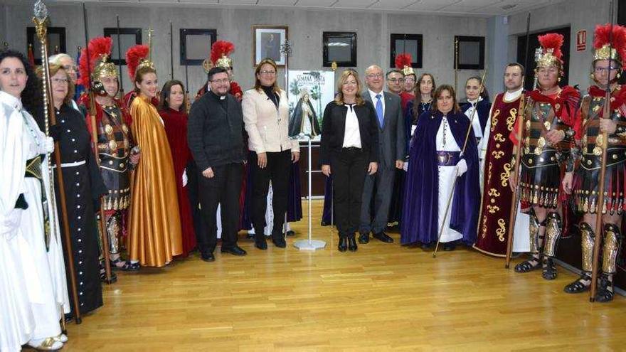
{"label": "tall staff with ornate silver top beside woman in white robe", "polygon": [[[46,113],[46,132],[48,132],[48,119],[50,124],[56,124],[56,114],[54,107],[54,100],[52,97],[52,81],[50,78],[50,67],[48,65],[48,9],[43,1],[38,0],[35,4],[35,16],[33,17],[35,23],[37,36],[41,43],[41,64],[43,68],[43,110]],[[58,142],[55,142],[54,158],[56,162],[56,177],[59,186],[59,198],[60,198],[60,210],[61,218],[63,219],[63,231],[65,237],[65,257],[68,259],[68,274],[70,276],[70,289],[72,290],[72,302],[74,305],[74,319],[76,324],[80,324],[82,319],[80,318],[80,304],[78,304],[78,289],[76,288],[76,270],[74,268],[73,250],[72,250],[72,238],[70,237],[70,222],[68,218],[68,206],[67,199],[65,198],[65,183],[63,183],[63,170],[61,169],[61,154]],[[50,159],[48,158],[48,161]],[[54,183],[51,182],[52,194],[54,194]],[[45,189],[41,190],[46,192]],[[52,206],[55,208],[54,196],[52,200]],[[57,215],[53,212],[53,216]],[[55,226],[52,226],[55,228]],[[62,242],[63,244],[63,242]],[[62,317],[63,319],[63,317]]]}

